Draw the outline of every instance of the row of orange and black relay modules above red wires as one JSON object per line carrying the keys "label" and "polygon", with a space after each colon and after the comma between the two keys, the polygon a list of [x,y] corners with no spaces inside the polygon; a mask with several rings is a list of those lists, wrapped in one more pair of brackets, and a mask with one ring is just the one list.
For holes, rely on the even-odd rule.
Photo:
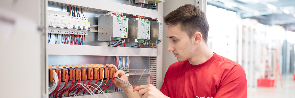
{"label": "row of orange and black relay modules above red wires", "polygon": [[[68,73],[68,80],[72,81],[72,76],[75,76],[75,80],[89,80],[91,76],[93,79],[109,79],[113,78],[114,67],[106,67],[102,64],[84,64],[84,65],[48,65],[49,67],[49,82],[53,82],[53,71],[61,72],[62,81],[65,82],[65,73]],[[80,73],[79,73],[80,72]],[[93,72],[91,74],[90,72]],[[72,75],[74,73],[74,75]],[[109,73],[109,76],[108,76]],[[78,77],[78,74],[81,74],[81,77]],[[97,77],[97,75],[99,77]],[[86,76],[86,77],[85,77]]]}

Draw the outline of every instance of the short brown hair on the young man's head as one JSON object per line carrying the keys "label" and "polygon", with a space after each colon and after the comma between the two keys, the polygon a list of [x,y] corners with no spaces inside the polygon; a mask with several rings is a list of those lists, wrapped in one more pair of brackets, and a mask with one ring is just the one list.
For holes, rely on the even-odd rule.
{"label": "short brown hair on the young man's head", "polygon": [[209,24],[205,13],[198,6],[192,4],[180,6],[165,16],[164,21],[167,26],[180,24],[181,30],[186,31],[189,38],[196,31],[201,32],[205,43],[207,43]]}

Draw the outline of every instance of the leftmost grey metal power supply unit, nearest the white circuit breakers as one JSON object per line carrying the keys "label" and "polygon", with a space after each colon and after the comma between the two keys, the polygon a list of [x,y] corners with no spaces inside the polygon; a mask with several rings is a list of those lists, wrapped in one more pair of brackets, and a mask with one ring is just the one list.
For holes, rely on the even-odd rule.
{"label": "leftmost grey metal power supply unit, nearest the white circuit breakers", "polygon": [[120,41],[128,36],[128,18],[117,15],[98,17],[98,41]]}

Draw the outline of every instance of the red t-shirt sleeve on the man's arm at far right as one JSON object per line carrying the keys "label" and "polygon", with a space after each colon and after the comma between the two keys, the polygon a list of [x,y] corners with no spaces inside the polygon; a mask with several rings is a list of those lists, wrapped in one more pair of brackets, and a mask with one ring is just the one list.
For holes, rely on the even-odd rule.
{"label": "red t-shirt sleeve on the man's arm at far right", "polygon": [[241,65],[235,65],[224,74],[214,98],[247,98],[247,80]]}

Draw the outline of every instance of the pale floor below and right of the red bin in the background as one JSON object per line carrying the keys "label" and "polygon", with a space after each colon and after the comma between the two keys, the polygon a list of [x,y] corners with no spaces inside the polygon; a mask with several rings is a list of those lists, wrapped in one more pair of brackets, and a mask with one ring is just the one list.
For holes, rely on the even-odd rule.
{"label": "pale floor below and right of the red bin in the background", "polygon": [[277,83],[277,87],[248,87],[248,98],[295,98],[295,81],[293,75],[282,76],[283,86]]}

